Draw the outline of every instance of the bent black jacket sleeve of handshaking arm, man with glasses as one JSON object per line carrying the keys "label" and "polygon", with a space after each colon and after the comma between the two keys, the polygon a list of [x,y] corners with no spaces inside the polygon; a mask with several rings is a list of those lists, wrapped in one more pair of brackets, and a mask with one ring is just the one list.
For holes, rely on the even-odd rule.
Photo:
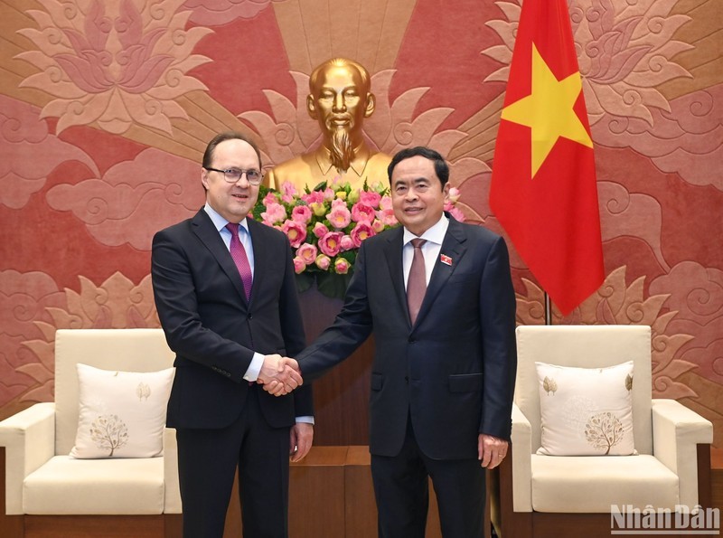
{"label": "bent black jacket sleeve of handshaking arm, man with glasses", "polygon": [[229,373],[241,382],[253,350],[204,326],[188,253],[168,231],[155,234],[151,254],[155,307],[169,347],[179,356]]}

